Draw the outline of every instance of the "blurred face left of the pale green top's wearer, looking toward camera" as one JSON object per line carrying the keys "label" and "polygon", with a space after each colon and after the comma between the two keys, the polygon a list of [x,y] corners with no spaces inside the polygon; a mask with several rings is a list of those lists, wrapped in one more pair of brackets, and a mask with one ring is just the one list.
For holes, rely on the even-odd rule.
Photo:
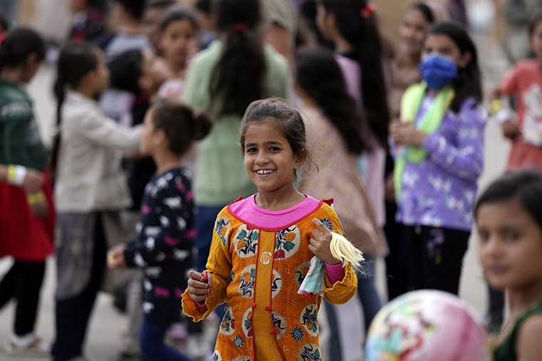
{"label": "blurred face left of the pale green top's wearer, looking toward camera", "polygon": [[160,36],[160,48],[168,64],[184,68],[195,51],[198,30],[190,21],[173,21]]}

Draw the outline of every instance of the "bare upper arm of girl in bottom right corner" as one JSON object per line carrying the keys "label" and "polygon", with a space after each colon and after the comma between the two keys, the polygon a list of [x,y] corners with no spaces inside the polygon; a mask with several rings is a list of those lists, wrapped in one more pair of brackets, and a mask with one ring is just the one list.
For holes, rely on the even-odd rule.
{"label": "bare upper arm of girl in bottom right corner", "polygon": [[518,361],[538,361],[542,355],[542,315],[533,315],[521,325],[516,350]]}

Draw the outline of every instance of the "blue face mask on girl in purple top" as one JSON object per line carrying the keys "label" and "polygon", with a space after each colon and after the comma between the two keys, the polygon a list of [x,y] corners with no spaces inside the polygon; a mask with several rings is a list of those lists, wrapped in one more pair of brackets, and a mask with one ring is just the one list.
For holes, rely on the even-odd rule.
{"label": "blue face mask on girl in purple top", "polygon": [[454,80],[457,75],[457,65],[450,58],[435,54],[422,59],[419,71],[429,89],[440,90]]}

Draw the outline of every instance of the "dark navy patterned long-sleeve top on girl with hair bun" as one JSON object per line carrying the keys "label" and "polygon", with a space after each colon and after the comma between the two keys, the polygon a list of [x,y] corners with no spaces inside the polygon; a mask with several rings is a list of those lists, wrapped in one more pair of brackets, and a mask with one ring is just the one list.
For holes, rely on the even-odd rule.
{"label": "dark navy patterned long-sleeve top on girl with hair bun", "polygon": [[138,236],[124,251],[128,267],[145,270],[143,311],[149,320],[178,320],[194,236],[190,172],[178,168],[155,176],[145,188]]}

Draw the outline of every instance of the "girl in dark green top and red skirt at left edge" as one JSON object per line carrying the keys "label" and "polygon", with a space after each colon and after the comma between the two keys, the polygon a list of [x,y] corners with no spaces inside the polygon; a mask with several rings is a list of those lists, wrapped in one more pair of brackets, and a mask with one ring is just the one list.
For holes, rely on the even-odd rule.
{"label": "girl in dark green top and red skirt at left edge", "polygon": [[[0,38],[0,257],[14,264],[0,282],[0,308],[16,300],[9,354],[46,357],[48,345],[34,334],[45,260],[53,253],[54,207],[41,140],[24,85],[45,58],[45,43],[30,28]],[[34,180],[33,180],[34,179]]]}

